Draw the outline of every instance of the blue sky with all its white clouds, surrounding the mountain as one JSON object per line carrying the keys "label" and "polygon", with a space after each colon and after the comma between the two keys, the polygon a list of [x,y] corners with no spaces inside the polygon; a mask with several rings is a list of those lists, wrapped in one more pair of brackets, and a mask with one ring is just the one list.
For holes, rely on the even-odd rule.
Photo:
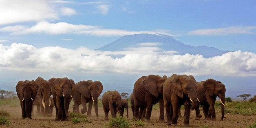
{"label": "blue sky with all its white clouds, surrounding the mountain", "polygon": [[[0,0],[0,76],[15,79],[14,83],[40,75],[45,79],[70,76],[78,82],[84,80],[78,76],[86,73],[253,80],[255,21],[255,0]],[[94,50],[137,33],[167,34],[184,44],[230,52],[204,58],[159,53],[150,47]]]}

